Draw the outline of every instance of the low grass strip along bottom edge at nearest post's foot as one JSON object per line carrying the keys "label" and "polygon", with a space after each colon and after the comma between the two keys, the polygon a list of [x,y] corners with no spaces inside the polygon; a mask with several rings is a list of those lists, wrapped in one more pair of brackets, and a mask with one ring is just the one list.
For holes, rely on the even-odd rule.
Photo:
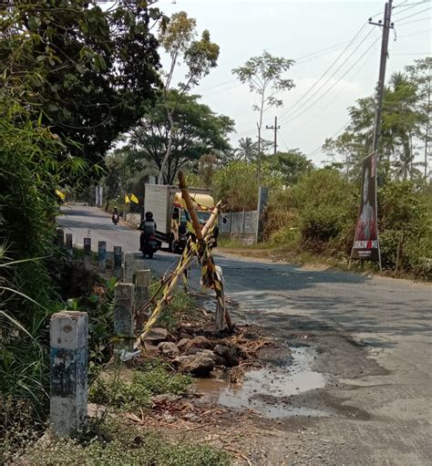
{"label": "low grass strip along bottom edge at nearest post's foot", "polygon": [[124,421],[108,419],[90,438],[40,442],[26,454],[23,463],[36,466],[229,466],[232,459],[223,450],[196,442],[169,441],[159,432],[143,431]]}

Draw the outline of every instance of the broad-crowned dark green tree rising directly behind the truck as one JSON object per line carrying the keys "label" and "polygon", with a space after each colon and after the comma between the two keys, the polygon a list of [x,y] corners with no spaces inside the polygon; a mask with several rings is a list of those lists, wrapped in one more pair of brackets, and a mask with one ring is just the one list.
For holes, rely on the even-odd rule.
{"label": "broad-crowned dark green tree rising directly behind the truck", "polygon": [[229,150],[227,136],[234,128],[230,118],[216,115],[207,105],[199,103],[199,96],[171,90],[168,98],[168,105],[173,108],[172,118],[178,125],[173,134],[166,101],[160,97],[154,107],[146,109],[146,116],[130,135],[132,153],[137,160],[152,163],[159,173],[166,163],[161,179],[165,184],[171,184],[185,164],[199,161],[202,155],[213,150]]}

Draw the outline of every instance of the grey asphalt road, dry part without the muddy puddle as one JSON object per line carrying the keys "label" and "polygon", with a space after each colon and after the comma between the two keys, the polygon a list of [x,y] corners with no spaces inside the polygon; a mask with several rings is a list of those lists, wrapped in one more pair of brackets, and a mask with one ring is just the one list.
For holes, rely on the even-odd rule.
{"label": "grey asphalt road, dry part without the muddy puddle", "polygon": [[[121,245],[138,253],[139,232],[114,226],[106,213],[80,206],[64,212],[59,223],[74,243],[89,235],[93,244],[107,241],[108,250]],[[176,259],[158,252],[145,265],[162,274]],[[286,339],[310,336],[321,353],[316,368],[332,380],[311,402],[332,399],[338,412],[351,408],[304,419],[304,432],[314,435],[299,438],[288,424],[283,448],[294,454],[294,445],[298,461],[274,464],[432,464],[430,285],[223,254],[216,261],[237,319]],[[199,271],[192,272],[198,285]],[[262,464],[283,461],[283,454]]]}

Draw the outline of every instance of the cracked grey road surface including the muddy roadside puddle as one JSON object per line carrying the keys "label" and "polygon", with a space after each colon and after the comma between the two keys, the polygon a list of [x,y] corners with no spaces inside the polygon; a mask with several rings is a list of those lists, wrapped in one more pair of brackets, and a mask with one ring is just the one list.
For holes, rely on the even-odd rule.
{"label": "cracked grey road surface including the muddy roadside puddle", "polygon": [[[75,209],[75,211],[74,211]],[[98,209],[60,219],[74,242],[90,235],[136,252],[137,232]],[[77,238],[77,240],[75,240]],[[108,249],[109,249],[108,244]],[[146,261],[163,274],[179,256]],[[261,326],[274,346],[242,385],[197,382],[211,411],[190,430],[253,465],[432,463],[432,287],[293,264],[217,255],[234,321]],[[190,285],[198,287],[192,267]]]}

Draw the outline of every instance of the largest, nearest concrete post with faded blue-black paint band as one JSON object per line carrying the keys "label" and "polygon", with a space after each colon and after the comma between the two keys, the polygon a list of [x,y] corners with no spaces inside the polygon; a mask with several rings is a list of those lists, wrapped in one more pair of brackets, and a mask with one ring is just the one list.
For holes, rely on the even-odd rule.
{"label": "largest, nearest concrete post with faded blue-black paint band", "polygon": [[87,424],[87,329],[86,312],[62,311],[51,317],[50,417],[58,437]]}

